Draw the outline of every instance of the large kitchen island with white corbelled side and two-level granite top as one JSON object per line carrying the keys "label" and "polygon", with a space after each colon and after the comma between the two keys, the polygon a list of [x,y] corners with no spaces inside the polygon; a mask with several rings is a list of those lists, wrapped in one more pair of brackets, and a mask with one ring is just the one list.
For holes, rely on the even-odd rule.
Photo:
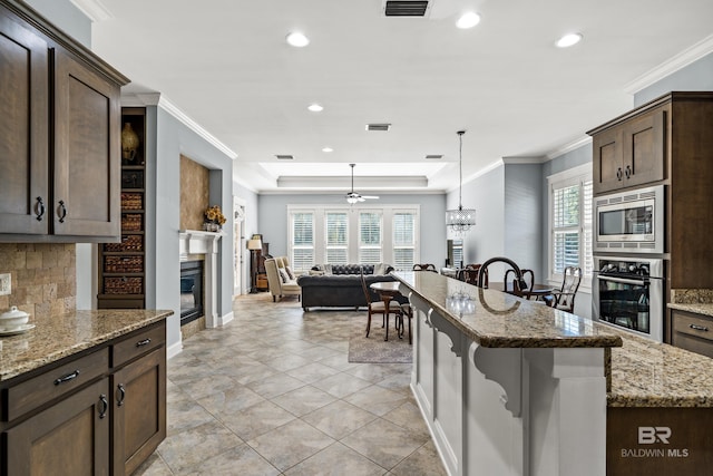
{"label": "large kitchen island with white corbelled side and two-level granite top", "polygon": [[414,309],[411,387],[450,474],[604,475],[607,448],[642,462],[638,426],[665,439],[654,420],[627,425],[639,416],[711,414],[713,375],[685,367],[700,356],[436,273],[395,276]]}

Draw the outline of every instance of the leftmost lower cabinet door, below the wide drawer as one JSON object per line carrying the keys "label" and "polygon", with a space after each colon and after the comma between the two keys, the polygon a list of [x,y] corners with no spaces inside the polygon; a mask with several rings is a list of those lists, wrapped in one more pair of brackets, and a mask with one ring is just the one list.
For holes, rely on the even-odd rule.
{"label": "leftmost lower cabinet door, below the wide drawer", "polygon": [[8,475],[108,475],[109,379],[4,431]]}

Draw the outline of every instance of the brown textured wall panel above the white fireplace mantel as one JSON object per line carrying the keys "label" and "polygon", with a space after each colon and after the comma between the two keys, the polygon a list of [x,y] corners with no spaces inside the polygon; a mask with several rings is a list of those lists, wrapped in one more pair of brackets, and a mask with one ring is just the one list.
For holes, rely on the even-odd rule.
{"label": "brown textured wall panel above the white fireplace mantel", "polygon": [[203,230],[203,213],[208,207],[208,169],[180,156],[180,230]]}

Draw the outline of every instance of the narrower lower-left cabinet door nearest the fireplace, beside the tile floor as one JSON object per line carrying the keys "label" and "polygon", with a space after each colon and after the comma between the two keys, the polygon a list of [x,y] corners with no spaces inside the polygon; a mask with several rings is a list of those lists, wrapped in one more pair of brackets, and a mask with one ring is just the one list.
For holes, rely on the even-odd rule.
{"label": "narrower lower-left cabinet door nearest the fireplace, beside the tile floor", "polygon": [[166,437],[166,352],[155,350],[111,380],[114,474],[129,475]]}

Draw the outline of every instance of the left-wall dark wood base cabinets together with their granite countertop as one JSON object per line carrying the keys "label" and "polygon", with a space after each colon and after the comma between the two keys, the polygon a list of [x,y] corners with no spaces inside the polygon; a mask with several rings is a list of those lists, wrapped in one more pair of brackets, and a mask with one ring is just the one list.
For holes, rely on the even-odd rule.
{"label": "left-wall dark wood base cabinets together with their granite countertop", "polygon": [[166,436],[166,318],[75,311],[0,338],[0,474],[130,474]]}

